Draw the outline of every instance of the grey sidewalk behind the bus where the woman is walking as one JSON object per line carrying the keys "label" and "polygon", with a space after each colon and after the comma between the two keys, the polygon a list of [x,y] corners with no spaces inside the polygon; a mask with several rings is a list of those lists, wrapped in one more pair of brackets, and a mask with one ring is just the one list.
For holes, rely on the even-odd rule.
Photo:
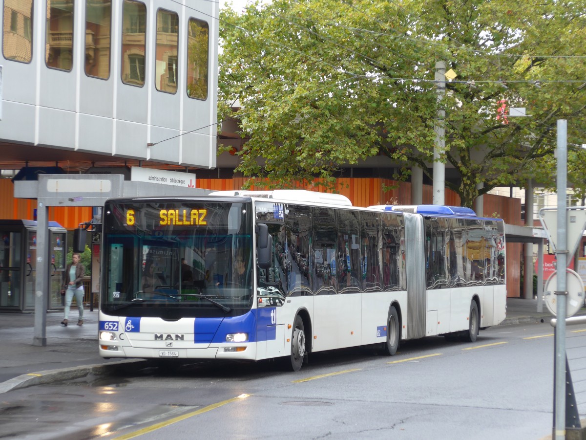
{"label": "grey sidewalk behind the bus where the woman is walking", "polygon": [[[581,312],[586,311],[584,309]],[[580,314],[580,313],[579,313]],[[543,305],[537,313],[537,300],[507,299],[507,317],[500,325],[548,322],[553,316]],[[98,356],[98,312],[84,311],[84,325],[76,326],[77,309],[70,313],[71,324],[60,325],[62,312],[47,313],[47,346],[33,346],[33,313],[0,313],[0,394],[29,387],[104,374],[115,365],[141,360],[106,360]]]}

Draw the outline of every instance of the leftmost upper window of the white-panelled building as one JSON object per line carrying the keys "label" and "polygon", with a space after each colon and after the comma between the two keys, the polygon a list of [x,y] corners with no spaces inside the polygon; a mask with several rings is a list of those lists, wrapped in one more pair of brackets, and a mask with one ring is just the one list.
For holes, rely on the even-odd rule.
{"label": "leftmost upper window of the white-panelled building", "polygon": [[6,59],[29,63],[33,53],[33,0],[4,0],[2,53]]}

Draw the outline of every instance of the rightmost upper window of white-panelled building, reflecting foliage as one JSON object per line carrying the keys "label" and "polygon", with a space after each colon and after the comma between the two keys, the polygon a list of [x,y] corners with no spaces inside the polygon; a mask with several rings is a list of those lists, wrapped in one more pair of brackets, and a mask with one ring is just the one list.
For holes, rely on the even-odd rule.
{"label": "rightmost upper window of white-panelled building, reflecting foliage", "polygon": [[209,26],[190,18],[187,45],[187,94],[190,98],[207,99],[208,53]]}

